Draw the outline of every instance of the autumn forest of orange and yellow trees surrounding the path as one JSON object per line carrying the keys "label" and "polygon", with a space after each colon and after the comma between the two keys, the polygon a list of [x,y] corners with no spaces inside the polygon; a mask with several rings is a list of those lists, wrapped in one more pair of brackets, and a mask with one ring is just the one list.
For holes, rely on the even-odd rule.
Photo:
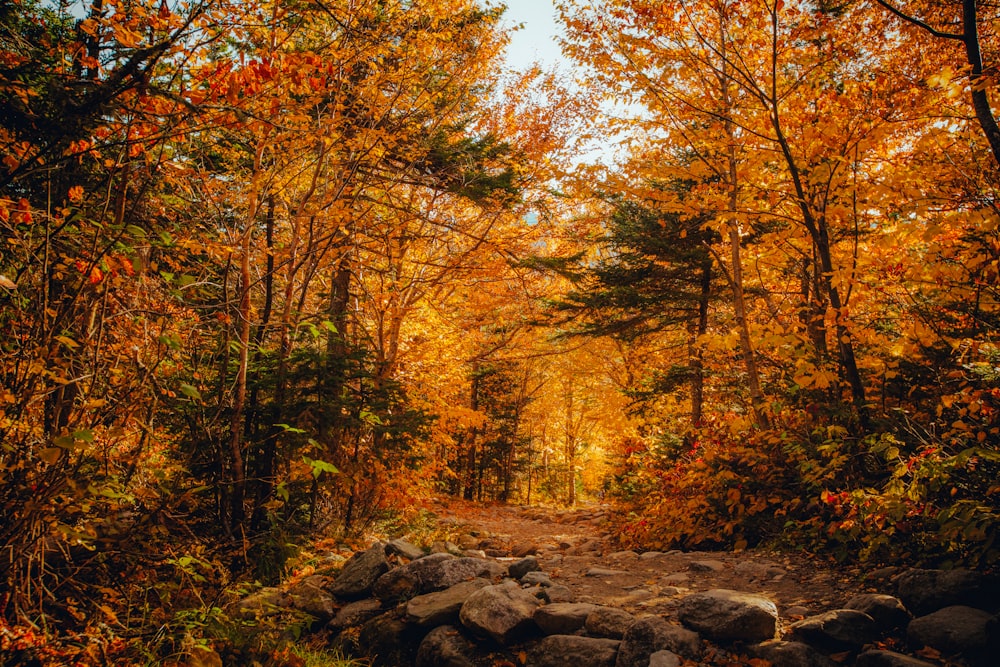
{"label": "autumn forest of orange and yellow trees surrounding the path", "polygon": [[572,75],[489,0],[0,0],[3,650],[159,664],[430,498],[996,565],[998,6],[557,5]]}

